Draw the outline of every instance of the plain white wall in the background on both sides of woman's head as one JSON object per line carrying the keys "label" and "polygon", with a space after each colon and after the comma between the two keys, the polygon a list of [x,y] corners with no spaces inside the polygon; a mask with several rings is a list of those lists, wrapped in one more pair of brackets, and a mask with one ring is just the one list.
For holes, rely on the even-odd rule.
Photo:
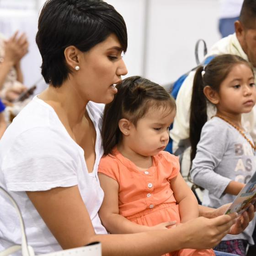
{"label": "plain white wall in the background on both sides of woman's head", "polygon": [[[197,39],[203,38],[210,48],[220,38],[217,30],[218,0],[106,1],[122,14],[127,24],[128,51],[124,60],[128,76],[144,75],[162,85],[169,84],[196,65],[194,47]],[[34,8],[30,10],[32,20],[26,26],[21,22],[22,10],[16,10],[16,14],[12,12],[8,17],[1,15],[1,11],[2,14],[6,13],[3,8],[8,4],[18,3],[19,9],[22,9],[21,2],[24,6],[27,3],[26,8]],[[24,59],[22,65],[25,84],[28,86],[40,77],[40,56],[35,49],[34,35],[38,13],[44,2],[0,0],[0,32],[9,36],[19,29],[31,35],[31,55],[27,60]],[[23,16],[26,16],[25,11]],[[4,28],[1,23],[5,24]]]}

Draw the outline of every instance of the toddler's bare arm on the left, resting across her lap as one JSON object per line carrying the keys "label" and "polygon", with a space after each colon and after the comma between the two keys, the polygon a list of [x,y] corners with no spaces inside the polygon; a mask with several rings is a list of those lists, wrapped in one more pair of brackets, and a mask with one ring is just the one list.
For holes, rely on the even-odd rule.
{"label": "toddler's bare arm on the left, resting across her lap", "polygon": [[131,234],[149,231],[153,229],[164,229],[167,226],[175,224],[175,222],[161,223],[153,227],[139,225],[131,222],[119,214],[118,208],[118,182],[111,177],[98,173],[101,188],[104,191],[104,199],[101,205],[99,215],[104,227],[112,234]]}

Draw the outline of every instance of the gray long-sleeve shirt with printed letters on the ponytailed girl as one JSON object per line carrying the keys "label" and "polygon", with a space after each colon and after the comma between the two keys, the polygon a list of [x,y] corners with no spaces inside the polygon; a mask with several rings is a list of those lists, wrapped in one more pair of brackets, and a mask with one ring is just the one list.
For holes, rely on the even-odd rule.
{"label": "gray long-sleeve shirt with printed letters on the ponytailed girl", "polygon": [[[249,133],[245,135],[252,141]],[[219,117],[205,123],[192,162],[191,177],[194,183],[208,190],[207,206],[218,208],[233,202],[235,196],[224,193],[229,182],[246,183],[255,171],[255,152],[237,129]],[[246,239],[253,244],[254,227],[255,219],[240,235],[226,235],[223,240]]]}

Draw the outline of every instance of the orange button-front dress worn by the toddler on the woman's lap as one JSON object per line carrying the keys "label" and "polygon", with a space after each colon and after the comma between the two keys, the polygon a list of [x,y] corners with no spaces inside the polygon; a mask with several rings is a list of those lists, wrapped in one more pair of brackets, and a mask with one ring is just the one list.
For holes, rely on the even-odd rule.
{"label": "orange button-front dress worn by the toddler on the woman's lap", "polygon": [[[153,165],[147,171],[125,158],[117,149],[113,155],[101,158],[98,172],[119,184],[119,214],[130,221],[147,226],[176,220],[181,222],[179,205],[173,195],[169,180],[180,171],[179,160],[166,151],[152,157]],[[189,210],[189,209],[188,209]],[[165,256],[215,256],[212,249],[182,249]]]}

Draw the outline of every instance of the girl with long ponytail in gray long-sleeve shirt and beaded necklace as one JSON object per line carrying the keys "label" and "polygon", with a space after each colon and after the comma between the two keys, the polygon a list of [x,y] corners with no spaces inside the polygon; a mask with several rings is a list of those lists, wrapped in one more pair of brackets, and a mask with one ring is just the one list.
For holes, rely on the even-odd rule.
{"label": "girl with long ponytail in gray long-sleeve shirt and beaded necklace", "polygon": [[[208,202],[218,208],[235,199],[256,170],[256,146],[241,125],[241,114],[255,105],[255,77],[251,65],[236,55],[215,57],[197,69],[191,101],[190,140],[195,184],[205,188]],[[216,115],[207,121],[207,104]],[[204,197],[206,198],[206,197]],[[226,235],[215,250],[245,256],[253,244],[255,220],[243,233]]]}

